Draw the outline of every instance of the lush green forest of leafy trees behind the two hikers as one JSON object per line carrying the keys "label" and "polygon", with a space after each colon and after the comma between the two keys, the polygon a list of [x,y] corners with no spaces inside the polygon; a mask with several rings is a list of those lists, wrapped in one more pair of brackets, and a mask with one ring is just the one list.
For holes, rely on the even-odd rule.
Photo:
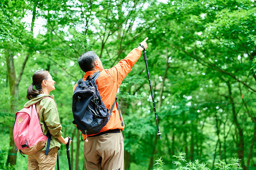
{"label": "lush green forest of leafy trees behind the two hikers", "polygon": [[[254,0],[1,0],[0,169],[26,169],[12,137],[16,111],[37,70],[52,91],[73,169],[83,169],[83,141],[72,124],[72,87],[83,77],[78,57],[95,51],[110,68],[146,37],[162,139],[143,57],[117,94],[125,121],[125,169],[165,169],[179,152],[213,167],[241,159],[256,168],[256,2]],[[60,167],[67,169],[65,146]],[[14,165],[14,166],[13,166]]]}

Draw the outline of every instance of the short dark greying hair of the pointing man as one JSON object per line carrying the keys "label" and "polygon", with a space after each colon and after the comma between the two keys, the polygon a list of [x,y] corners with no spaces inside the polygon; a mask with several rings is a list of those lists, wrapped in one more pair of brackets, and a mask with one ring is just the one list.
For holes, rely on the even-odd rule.
{"label": "short dark greying hair of the pointing man", "polygon": [[91,71],[97,59],[98,56],[94,51],[87,51],[78,58],[78,64],[84,72]]}

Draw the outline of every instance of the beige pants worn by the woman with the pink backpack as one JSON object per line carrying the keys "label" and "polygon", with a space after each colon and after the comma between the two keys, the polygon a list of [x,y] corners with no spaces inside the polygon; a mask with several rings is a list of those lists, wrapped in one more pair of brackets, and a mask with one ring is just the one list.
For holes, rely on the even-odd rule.
{"label": "beige pants worn by the woman with the pink backpack", "polygon": [[49,149],[48,155],[45,150],[28,155],[28,170],[54,170],[57,161],[58,148]]}

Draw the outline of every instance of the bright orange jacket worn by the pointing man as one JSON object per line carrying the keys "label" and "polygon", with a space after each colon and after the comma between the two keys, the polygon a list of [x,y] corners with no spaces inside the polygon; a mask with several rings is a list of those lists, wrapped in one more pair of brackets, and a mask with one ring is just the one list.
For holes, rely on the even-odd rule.
{"label": "bright orange jacket worn by the pointing man", "polygon": [[[124,78],[132,70],[132,66],[138,61],[141,56],[141,50],[134,48],[124,59],[120,60],[115,66],[110,69],[104,69],[101,71],[99,77],[96,80],[96,84],[101,96],[101,99],[107,109],[110,110],[111,106],[115,102],[117,89],[121,85]],[[87,71],[84,74],[83,81],[86,80],[87,76],[95,73],[96,70]],[[77,84],[73,87],[73,92]],[[124,125],[121,124],[121,119],[123,120],[122,114],[121,118],[117,109],[117,104],[111,113],[108,123],[100,130],[100,132],[110,130],[110,129],[124,129]],[[99,132],[99,133],[100,133]],[[94,134],[91,134],[94,135]],[[87,137],[90,135],[87,135]],[[83,134],[83,139],[85,135]]]}

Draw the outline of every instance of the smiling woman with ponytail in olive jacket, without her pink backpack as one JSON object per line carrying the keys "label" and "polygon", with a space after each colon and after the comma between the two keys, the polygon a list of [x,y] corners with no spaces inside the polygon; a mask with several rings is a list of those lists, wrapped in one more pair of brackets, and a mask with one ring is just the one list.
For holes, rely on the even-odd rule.
{"label": "smiling woman with ponytail in olive jacket, without her pink backpack", "polygon": [[61,143],[68,143],[68,137],[62,137],[61,124],[54,95],[50,95],[50,92],[55,89],[55,81],[48,71],[35,72],[32,80],[33,83],[28,87],[27,92],[27,99],[29,101],[24,107],[27,108],[33,104],[36,105],[43,134],[46,135],[49,131],[51,142],[48,155],[45,155],[47,141],[40,151],[28,155],[28,170],[54,170],[57,152],[60,149]]}

